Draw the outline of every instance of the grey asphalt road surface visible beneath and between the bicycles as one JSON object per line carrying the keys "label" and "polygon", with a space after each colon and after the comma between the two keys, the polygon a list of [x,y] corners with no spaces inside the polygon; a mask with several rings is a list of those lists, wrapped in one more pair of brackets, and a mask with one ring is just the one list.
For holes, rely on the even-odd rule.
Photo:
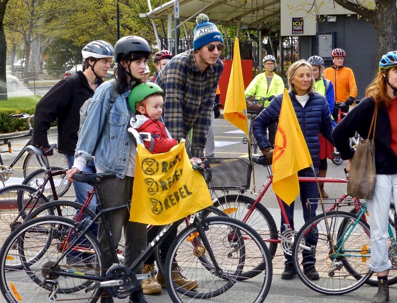
{"label": "grey asphalt road surface visible beneath and between the bicycles", "polygon": [[[54,130],[50,131],[50,142],[56,142],[56,132]],[[215,144],[216,144],[216,157],[242,157],[248,158],[248,146],[244,145],[243,142],[244,134],[236,129],[235,126],[230,125],[224,119],[216,120],[215,127]],[[5,165],[12,161],[12,158],[15,157],[16,153],[24,146],[26,139],[19,139],[12,141],[13,145],[13,153],[9,155],[8,153],[2,153],[3,161]],[[1,150],[4,150],[4,147]],[[346,163],[344,163],[346,164]],[[340,166],[334,165],[330,160],[328,160],[328,176],[329,177],[344,177],[344,164]],[[22,165],[22,162],[21,164]],[[11,184],[11,182],[22,181],[21,174],[15,172],[16,178],[11,178],[6,182],[6,185]],[[225,172],[225,176],[227,176],[227,172]],[[267,170],[266,168],[255,165],[254,166],[254,176],[256,182],[256,188],[259,190],[261,188],[261,184],[263,184],[267,180]],[[253,178],[251,178],[252,184]],[[346,191],[346,185],[344,184],[326,184],[325,189],[328,192],[330,197],[340,197]],[[247,193],[252,197],[255,197],[254,194]],[[264,198],[261,201],[272,213],[275,222],[277,225],[280,222],[279,208],[277,201],[274,197],[273,191],[269,190]],[[300,203],[296,203],[296,227],[300,227],[303,223],[302,215],[301,215],[301,206]],[[282,272],[283,257],[275,256],[273,259],[273,282],[272,287],[270,289],[269,295],[266,298],[266,302],[273,303],[307,303],[307,302],[316,302],[316,303],[358,303],[358,302],[371,302],[371,298],[374,293],[376,293],[377,288],[371,286],[363,286],[360,289],[349,293],[343,296],[325,296],[319,293],[316,293],[309,288],[307,288],[297,277],[293,280],[282,280],[280,278],[280,274]],[[233,300],[231,302],[241,302],[244,303],[244,292],[241,291],[238,287],[233,287],[230,292],[233,292]],[[396,295],[396,287],[390,287],[391,292],[391,301],[397,302]],[[152,303],[163,303],[163,302],[171,302],[170,298],[167,295],[167,292],[163,291],[162,295],[156,296],[148,296],[148,299]],[[217,300],[214,300],[217,301]],[[0,302],[5,302],[4,299],[0,298]],[[128,300],[115,300],[116,303],[127,303]],[[226,302],[226,301],[224,301]]]}

